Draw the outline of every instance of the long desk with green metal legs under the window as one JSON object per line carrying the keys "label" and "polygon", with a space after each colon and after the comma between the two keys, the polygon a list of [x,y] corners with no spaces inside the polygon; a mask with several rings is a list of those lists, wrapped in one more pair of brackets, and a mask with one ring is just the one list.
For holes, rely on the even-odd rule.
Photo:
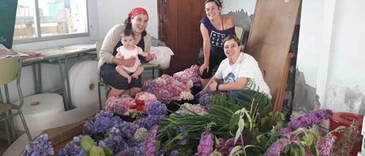
{"label": "long desk with green metal legs under the window", "polygon": [[[68,76],[68,63],[72,58],[76,61],[96,59],[96,54],[88,52],[96,51],[95,44],[81,44],[65,47],[54,47],[37,50],[41,52],[38,56],[27,56],[22,58],[23,66],[32,65],[34,76],[35,93],[42,93],[41,63],[58,64],[61,74],[61,83],[64,90],[65,110],[71,108],[70,82]],[[37,66],[36,66],[37,65]],[[63,65],[63,66],[62,66]],[[66,79],[66,85],[65,85]]]}

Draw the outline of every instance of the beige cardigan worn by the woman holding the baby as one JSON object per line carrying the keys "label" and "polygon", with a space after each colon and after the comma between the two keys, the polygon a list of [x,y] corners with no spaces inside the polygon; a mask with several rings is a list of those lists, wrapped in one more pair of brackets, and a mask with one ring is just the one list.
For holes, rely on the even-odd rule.
{"label": "beige cardigan worn by the woman holding the baby", "polygon": [[[114,58],[114,47],[120,41],[120,34],[124,31],[125,28],[126,26],[124,24],[117,24],[108,31],[100,48],[100,59],[97,67],[97,73],[100,72],[100,67],[104,65],[104,63],[112,63],[112,58]],[[150,52],[151,36],[147,34],[145,37],[143,37],[143,39],[145,41],[145,52]]]}

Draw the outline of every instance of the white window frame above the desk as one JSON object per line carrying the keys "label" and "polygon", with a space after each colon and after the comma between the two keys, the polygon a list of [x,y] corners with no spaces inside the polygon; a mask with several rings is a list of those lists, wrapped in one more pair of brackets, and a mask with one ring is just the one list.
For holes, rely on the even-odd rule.
{"label": "white window frame above the desk", "polygon": [[[41,16],[39,15],[39,6],[38,0],[34,0],[35,5],[35,34],[37,37],[35,38],[25,38],[25,39],[13,39],[13,44],[22,44],[22,43],[32,43],[32,42],[41,42],[41,41],[48,41],[48,40],[58,40],[58,39],[68,39],[68,38],[77,38],[77,37],[84,37],[90,36],[89,31],[89,7],[88,7],[88,0],[84,0],[86,3],[86,32],[80,33],[72,33],[72,34],[59,34],[59,35],[51,35],[51,36],[41,36]],[[14,25],[15,26],[15,25]]]}

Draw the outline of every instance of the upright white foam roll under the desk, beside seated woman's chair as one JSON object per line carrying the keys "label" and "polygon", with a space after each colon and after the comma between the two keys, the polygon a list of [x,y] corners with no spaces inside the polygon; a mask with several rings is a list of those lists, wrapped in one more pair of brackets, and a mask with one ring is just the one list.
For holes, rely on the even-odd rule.
{"label": "upright white foam roll under the desk, beside seated woman's chair", "polygon": [[[98,105],[97,61],[77,63],[69,70],[71,102],[74,108]],[[101,92],[103,94],[103,92]]]}

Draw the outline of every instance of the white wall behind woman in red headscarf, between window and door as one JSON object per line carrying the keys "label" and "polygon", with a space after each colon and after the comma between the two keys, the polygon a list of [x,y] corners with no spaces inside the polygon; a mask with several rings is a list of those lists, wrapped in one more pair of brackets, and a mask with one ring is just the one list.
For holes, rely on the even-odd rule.
{"label": "white wall behind woman in red headscarf, between window and door", "polygon": [[158,38],[158,12],[157,0],[97,0],[100,40],[115,24],[123,23],[128,13],[136,7],[145,8],[149,14],[146,31]]}

